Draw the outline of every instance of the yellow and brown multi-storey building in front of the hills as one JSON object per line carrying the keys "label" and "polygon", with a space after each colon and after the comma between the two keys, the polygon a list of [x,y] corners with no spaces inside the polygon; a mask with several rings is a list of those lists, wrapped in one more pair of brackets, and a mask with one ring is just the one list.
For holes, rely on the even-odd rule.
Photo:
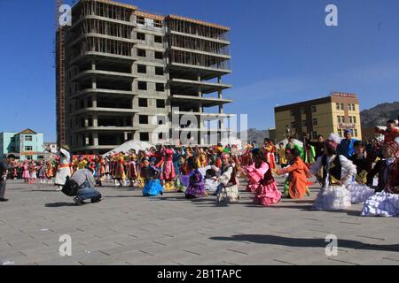
{"label": "yellow and brown multi-storey building in front of the hills", "polygon": [[330,96],[275,108],[276,138],[278,141],[294,136],[302,140],[309,136],[316,140],[319,134],[331,133],[343,137],[345,130],[361,140],[359,101],[354,94],[334,92]]}

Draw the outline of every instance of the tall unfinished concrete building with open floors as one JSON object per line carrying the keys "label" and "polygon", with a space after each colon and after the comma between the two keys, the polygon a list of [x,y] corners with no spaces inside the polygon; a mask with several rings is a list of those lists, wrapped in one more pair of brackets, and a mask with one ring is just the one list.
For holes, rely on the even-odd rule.
{"label": "tall unfinished concrete building with open floors", "polygon": [[[223,90],[231,86],[222,82],[231,73],[229,31],[129,4],[79,1],[65,31],[65,77],[57,75],[58,86],[65,80],[65,107],[58,107],[65,141],[59,143],[74,154],[101,154],[129,140],[177,143],[173,131],[196,131],[195,141],[187,136],[200,145],[210,131],[223,134],[222,120],[209,129],[204,119],[230,116],[223,113],[231,103]],[[197,125],[172,125],[184,114]]]}

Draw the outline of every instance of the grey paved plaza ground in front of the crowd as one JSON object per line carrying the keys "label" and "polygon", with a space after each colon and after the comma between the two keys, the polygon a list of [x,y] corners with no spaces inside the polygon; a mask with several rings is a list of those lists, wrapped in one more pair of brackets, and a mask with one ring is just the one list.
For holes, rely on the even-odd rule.
{"label": "grey paved plaza ground in front of the crowd", "polygon": [[[78,207],[54,187],[11,180],[10,201],[0,203],[0,264],[399,264],[398,218],[362,218],[361,205],[309,210],[317,186],[272,207],[254,206],[246,192],[216,207],[214,196],[101,187],[103,202]],[[59,256],[63,234],[72,256]],[[325,254],[329,234],[338,256]]]}

